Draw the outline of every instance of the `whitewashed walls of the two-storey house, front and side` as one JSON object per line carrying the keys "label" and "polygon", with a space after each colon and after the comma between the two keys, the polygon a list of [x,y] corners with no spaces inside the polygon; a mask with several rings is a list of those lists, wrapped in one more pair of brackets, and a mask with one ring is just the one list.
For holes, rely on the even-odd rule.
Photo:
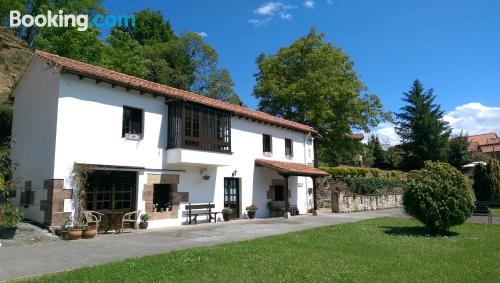
{"label": "whitewashed walls of the two-storey house, front and side", "polygon": [[[224,178],[236,171],[235,177],[240,178],[240,215],[245,217],[245,207],[255,203],[259,206],[257,216],[265,217],[269,213],[266,191],[272,179],[282,177],[270,169],[256,167],[255,159],[313,162],[309,135],[237,117],[231,119],[232,154],[165,150],[168,107],[164,98],[140,95],[71,74],[59,75],[46,66],[32,65],[31,73],[17,90],[14,114],[13,136],[21,142],[16,145],[13,158],[23,161],[16,175],[36,180],[37,186],[41,187],[44,179],[67,180],[75,163],[143,167],[138,170],[137,209],[145,210],[142,191],[147,174],[165,172],[179,174],[178,191],[189,192],[190,202],[214,202],[220,211]],[[144,110],[140,141],[122,137],[123,106]],[[262,134],[272,136],[271,156],[262,152]],[[285,156],[285,138],[293,140],[292,159]],[[208,169],[210,180],[203,180],[201,168]],[[177,171],[170,173],[167,169]],[[312,196],[308,194],[311,187],[310,178],[289,178],[290,202],[301,213],[312,205]],[[184,205],[181,204],[179,219],[153,221],[151,227],[179,224],[184,220]]]}

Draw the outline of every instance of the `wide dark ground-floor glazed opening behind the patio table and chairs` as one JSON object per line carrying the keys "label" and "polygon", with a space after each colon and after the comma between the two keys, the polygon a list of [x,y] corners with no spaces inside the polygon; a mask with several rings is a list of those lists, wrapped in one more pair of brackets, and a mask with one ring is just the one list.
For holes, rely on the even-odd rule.
{"label": "wide dark ground-floor glazed opening behind the patio table and chairs", "polygon": [[92,172],[88,176],[85,191],[86,209],[133,210],[136,179],[136,172],[102,170]]}

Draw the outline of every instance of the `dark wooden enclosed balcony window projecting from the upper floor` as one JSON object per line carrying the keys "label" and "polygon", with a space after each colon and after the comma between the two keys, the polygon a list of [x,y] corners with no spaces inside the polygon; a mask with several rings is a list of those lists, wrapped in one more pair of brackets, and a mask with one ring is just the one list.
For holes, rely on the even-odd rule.
{"label": "dark wooden enclosed balcony window projecting from the upper floor", "polygon": [[168,106],[168,148],[231,152],[228,112],[189,103]]}

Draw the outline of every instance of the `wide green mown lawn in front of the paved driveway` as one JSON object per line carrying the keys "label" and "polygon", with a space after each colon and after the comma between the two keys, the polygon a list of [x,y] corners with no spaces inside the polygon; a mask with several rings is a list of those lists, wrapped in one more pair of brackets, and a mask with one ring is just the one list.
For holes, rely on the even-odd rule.
{"label": "wide green mown lawn in front of the paved driveway", "polygon": [[[34,282],[498,282],[500,225],[430,237],[378,218],[82,268]],[[75,254],[75,256],[78,256]]]}

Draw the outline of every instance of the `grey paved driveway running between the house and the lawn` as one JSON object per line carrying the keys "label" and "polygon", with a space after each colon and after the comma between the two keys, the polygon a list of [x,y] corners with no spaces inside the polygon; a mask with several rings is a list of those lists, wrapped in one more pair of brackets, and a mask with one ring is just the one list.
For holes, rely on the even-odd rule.
{"label": "grey paved driveway running between the house and the lawn", "polygon": [[[228,223],[138,230],[135,233],[99,235],[94,239],[55,241],[21,247],[0,248],[0,281],[60,272],[127,258],[172,250],[300,231],[320,226],[354,222],[383,216],[403,216],[400,209],[345,214],[296,216],[291,219],[242,219]],[[43,258],[43,261],[39,259]]]}

